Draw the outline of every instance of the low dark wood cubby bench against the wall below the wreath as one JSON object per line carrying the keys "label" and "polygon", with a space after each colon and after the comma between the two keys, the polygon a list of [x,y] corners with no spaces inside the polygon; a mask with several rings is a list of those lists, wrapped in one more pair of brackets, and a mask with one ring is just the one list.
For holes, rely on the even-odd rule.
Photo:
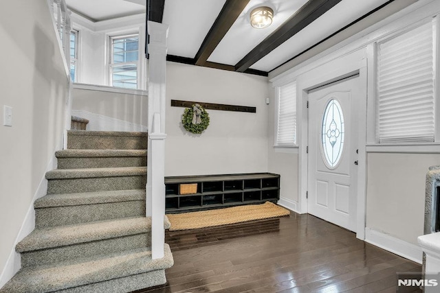
{"label": "low dark wood cubby bench against the wall below the wreath", "polygon": [[[179,185],[197,183],[195,194],[179,194]],[[167,213],[200,211],[276,203],[280,198],[280,176],[272,173],[165,177]]]}

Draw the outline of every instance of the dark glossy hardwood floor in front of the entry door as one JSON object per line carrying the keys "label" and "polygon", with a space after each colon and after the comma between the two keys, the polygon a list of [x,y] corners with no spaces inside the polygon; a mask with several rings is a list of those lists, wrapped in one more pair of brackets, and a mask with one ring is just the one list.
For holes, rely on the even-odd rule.
{"label": "dark glossy hardwood floor in front of the entry door", "polygon": [[175,265],[152,292],[396,292],[418,263],[312,215],[166,232]]}

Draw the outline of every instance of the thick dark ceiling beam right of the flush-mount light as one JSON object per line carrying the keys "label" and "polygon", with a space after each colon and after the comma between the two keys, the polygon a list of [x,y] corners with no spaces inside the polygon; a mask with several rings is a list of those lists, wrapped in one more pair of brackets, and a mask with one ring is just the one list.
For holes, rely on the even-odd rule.
{"label": "thick dark ceiling beam right of the flush-mount light", "polygon": [[333,6],[342,0],[311,0],[292,15],[283,25],[278,27],[272,34],[267,36],[263,42],[254,47],[243,59],[236,65],[235,69],[244,72],[254,63],[272,52],[276,47],[283,44],[289,38],[303,30],[310,23],[318,19],[319,16],[325,14]]}

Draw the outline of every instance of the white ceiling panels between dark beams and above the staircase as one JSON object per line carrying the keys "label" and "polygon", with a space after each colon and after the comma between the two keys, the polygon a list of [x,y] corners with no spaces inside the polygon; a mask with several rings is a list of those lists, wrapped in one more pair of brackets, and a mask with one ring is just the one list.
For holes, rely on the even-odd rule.
{"label": "white ceiling panels between dark beams and above the staircase", "polygon": [[[251,65],[250,69],[272,71],[387,1],[342,0],[298,34]],[[226,0],[165,0],[162,23],[170,27],[168,55],[195,58],[225,2]],[[207,61],[221,65],[236,65],[307,2],[308,0],[250,0]],[[69,8],[92,21],[144,13],[145,3],[146,0],[67,0]],[[251,27],[249,14],[253,8],[261,5],[274,9],[274,22],[270,27],[259,30]]]}

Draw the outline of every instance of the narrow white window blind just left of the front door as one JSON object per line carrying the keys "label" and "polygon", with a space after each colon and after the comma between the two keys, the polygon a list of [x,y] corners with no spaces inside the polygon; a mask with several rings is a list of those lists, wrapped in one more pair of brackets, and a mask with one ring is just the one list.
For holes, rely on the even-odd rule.
{"label": "narrow white window blind just left of the front door", "polygon": [[296,144],[296,82],[278,88],[276,145]]}

